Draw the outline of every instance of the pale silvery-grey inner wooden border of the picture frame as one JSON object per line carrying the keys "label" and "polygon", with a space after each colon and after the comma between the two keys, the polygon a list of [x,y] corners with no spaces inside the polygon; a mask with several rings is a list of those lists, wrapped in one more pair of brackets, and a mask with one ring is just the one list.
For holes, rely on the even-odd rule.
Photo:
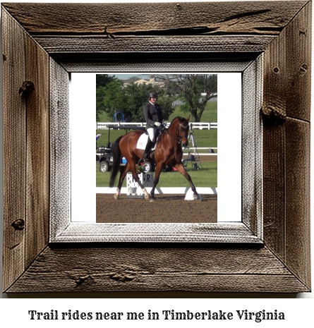
{"label": "pale silvery-grey inner wooden border of the picture frame", "polygon": [[[184,56],[187,60],[190,56]],[[56,63],[51,66],[51,110],[50,121],[50,148],[56,149],[50,161],[50,243],[75,243],[75,242],[210,242],[210,243],[262,243],[262,122],[260,108],[262,106],[262,55],[252,61],[238,63],[209,63],[199,62],[198,73],[203,71],[228,71],[240,72],[242,79],[242,116],[241,129],[242,139],[246,140],[242,145],[242,183],[238,191],[246,195],[242,200],[242,211],[237,213],[240,222],[233,221],[234,217],[224,217],[224,223],[219,224],[194,224],[188,221],[179,224],[169,223],[128,223],[121,224],[97,224],[88,222],[88,218],[79,220],[73,217],[69,201],[71,194],[71,163],[68,153],[70,152],[70,138],[59,138],[60,130],[69,132],[68,97],[59,96],[58,90],[68,90],[68,74],[63,78],[59,75]],[[107,64],[102,72],[119,70],[121,64]],[[154,63],[154,71],[163,71],[164,64]],[[124,63],[124,66],[126,64]],[[138,63],[133,70],[145,71],[145,63]],[[91,66],[90,66],[90,69]],[[95,69],[95,68],[93,68]],[[99,68],[97,68],[99,69]],[[171,63],[172,70],[193,71],[195,63],[181,61]],[[62,102],[63,111],[59,111],[57,102]],[[241,114],[241,113],[240,113]],[[70,121],[70,122],[69,122]],[[241,152],[241,142],[237,145]],[[72,155],[76,157],[76,154]],[[114,189],[115,190],[115,189]],[[57,201],[55,201],[57,200]],[[119,204],[117,202],[117,204]],[[91,205],[93,206],[93,205]],[[94,205],[95,206],[95,205]],[[119,213],[119,207],[115,215]],[[234,215],[231,213],[230,215]],[[207,221],[206,214],[200,217],[195,207],[195,216]],[[83,221],[79,223],[78,221]],[[128,223],[128,224],[126,224]]]}

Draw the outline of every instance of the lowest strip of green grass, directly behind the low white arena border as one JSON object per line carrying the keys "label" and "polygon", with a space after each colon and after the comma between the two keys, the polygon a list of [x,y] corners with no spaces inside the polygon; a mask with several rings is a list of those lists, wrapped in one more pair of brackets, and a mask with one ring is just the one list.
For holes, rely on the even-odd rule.
{"label": "lowest strip of green grass, directly behind the low white arena border", "polygon": [[[199,170],[191,169],[188,164],[188,174],[190,174],[195,187],[217,188],[217,162],[202,162]],[[109,178],[111,172],[100,172],[99,164],[96,162],[96,187],[109,187]],[[119,175],[116,178],[118,184]],[[188,187],[188,181],[179,172],[162,172],[160,174],[158,187]],[[123,182],[126,187],[126,179]]]}

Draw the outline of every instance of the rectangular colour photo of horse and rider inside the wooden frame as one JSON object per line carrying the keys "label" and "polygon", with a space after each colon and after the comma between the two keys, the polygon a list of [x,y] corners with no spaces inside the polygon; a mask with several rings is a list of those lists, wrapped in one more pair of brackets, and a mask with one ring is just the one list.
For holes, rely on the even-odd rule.
{"label": "rectangular colour photo of horse and rider inside the wooden frame", "polygon": [[96,126],[97,222],[217,222],[217,74],[97,74]]}

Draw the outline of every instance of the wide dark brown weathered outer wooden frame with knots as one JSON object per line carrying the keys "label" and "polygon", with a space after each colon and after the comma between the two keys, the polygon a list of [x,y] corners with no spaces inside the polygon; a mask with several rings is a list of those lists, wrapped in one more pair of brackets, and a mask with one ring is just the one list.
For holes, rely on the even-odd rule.
{"label": "wide dark brown weathered outer wooden frame with knots", "polygon": [[[310,291],[310,1],[150,4],[149,10],[12,3],[2,4],[1,18],[5,292]],[[54,87],[52,76],[66,80],[114,63],[126,63],[127,71],[162,61],[171,70],[182,59],[226,63],[261,55],[262,226],[250,221],[250,240],[49,243],[49,212],[58,202],[49,197],[51,184],[61,183],[51,168],[68,156],[56,147],[67,132],[51,121],[52,109],[66,119],[68,90]],[[54,147],[51,126],[59,128]],[[222,239],[232,232],[222,231]]]}

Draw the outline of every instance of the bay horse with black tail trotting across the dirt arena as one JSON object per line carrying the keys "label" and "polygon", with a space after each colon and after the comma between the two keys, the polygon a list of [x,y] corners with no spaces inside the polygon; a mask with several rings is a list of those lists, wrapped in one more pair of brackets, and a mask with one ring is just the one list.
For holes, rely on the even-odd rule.
{"label": "bay horse with black tail trotting across the dirt arena", "polygon": [[[142,188],[144,197],[146,200],[154,200],[155,199],[155,188],[159,181],[160,173],[162,169],[166,165],[174,166],[190,183],[190,186],[193,190],[193,198],[195,200],[201,200],[200,195],[198,195],[195,186],[193,185],[191,176],[186,172],[184,166],[182,164],[183,158],[183,147],[188,145],[188,121],[190,116],[187,119],[183,117],[177,116],[174,118],[169,128],[165,126],[162,127],[162,132],[156,140],[156,147],[155,147],[155,162],[156,162],[156,169],[155,169],[155,178],[154,178],[154,185],[150,192],[150,195],[147,193],[147,190],[140,183],[140,179],[138,178],[138,173],[136,171],[136,164],[138,160],[143,158],[144,150],[140,150],[136,148],[136,144],[138,142],[138,138],[142,135],[143,131],[134,130],[126,133],[119,137],[112,147],[112,152],[114,155],[112,171],[110,176],[110,183],[109,187],[114,187],[114,183],[116,181],[116,176],[120,169],[121,163],[121,154],[126,158],[127,164],[124,166],[124,169],[121,171],[118,187],[116,188],[116,194],[114,198],[118,199],[122,187],[122,183],[128,171],[132,171],[132,175],[134,180],[138,183],[140,188]],[[151,156],[151,155],[150,155]]]}

